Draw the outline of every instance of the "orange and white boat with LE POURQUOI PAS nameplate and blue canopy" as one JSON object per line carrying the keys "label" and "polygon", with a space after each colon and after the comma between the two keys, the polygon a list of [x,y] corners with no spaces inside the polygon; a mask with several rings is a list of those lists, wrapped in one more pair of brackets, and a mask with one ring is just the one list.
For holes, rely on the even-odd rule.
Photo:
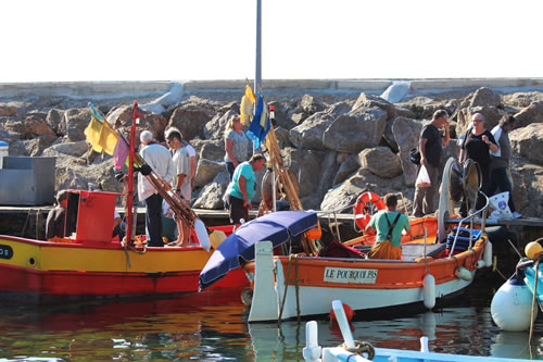
{"label": "orange and white boat with LE POURQUOI PAS nameplate and blue canopy", "polygon": [[[446,173],[452,162],[447,167]],[[447,188],[444,177],[443,189]],[[447,208],[440,201],[442,215],[452,215],[443,212]],[[414,220],[411,235],[402,240],[402,260],[376,260],[364,255],[370,244],[367,236],[340,245],[346,258],[345,253],[336,258],[323,251],[315,255],[307,251],[279,255],[276,247],[286,241],[289,248],[294,247],[294,236],[315,227],[317,215],[276,212],[249,222],[229,236],[202,271],[200,285],[206,287],[229,269],[235,270],[241,257],[247,261],[242,267],[252,280],[252,298],[248,298],[251,292],[244,298],[251,305],[249,322],[326,314],[338,298],[353,310],[416,304],[432,309],[440,300],[468,287],[477,270],[492,263],[485,235],[462,227],[468,219],[458,220],[456,227],[440,225],[444,217]],[[277,230],[268,233],[266,227],[272,226]],[[440,228],[450,230],[449,235],[438,237]],[[276,237],[281,229],[283,234]]]}

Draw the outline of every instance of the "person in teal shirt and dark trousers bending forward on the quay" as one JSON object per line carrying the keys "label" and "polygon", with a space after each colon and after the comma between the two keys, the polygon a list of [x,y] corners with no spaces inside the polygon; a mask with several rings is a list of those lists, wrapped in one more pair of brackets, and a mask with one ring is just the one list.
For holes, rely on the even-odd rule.
{"label": "person in teal shirt and dark trousers bending forward on the quay", "polygon": [[230,212],[230,222],[236,227],[241,225],[241,219],[248,221],[251,201],[256,190],[255,172],[262,170],[266,159],[255,153],[251,160],[240,163],[233,171],[233,177],[226,190],[226,203]]}

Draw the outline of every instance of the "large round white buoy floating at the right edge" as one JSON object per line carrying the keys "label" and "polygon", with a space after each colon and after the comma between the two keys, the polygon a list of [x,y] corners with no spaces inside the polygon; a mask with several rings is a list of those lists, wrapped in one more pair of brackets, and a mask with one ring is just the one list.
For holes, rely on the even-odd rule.
{"label": "large round white buoy floating at the right edge", "polygon": [[504,330],[527,330],[530,327],[533,296],[523,277],[523,273],[517,271],[492,298],[492,320]]}

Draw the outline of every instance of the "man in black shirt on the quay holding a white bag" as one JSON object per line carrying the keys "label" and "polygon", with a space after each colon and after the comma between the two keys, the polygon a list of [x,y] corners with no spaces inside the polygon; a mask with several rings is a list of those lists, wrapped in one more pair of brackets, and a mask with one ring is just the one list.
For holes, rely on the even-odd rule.
{"label": "man in black shirt on the quay holding a white bag", "polygon": [[[444,137],[441,136],[441,128],[445,128]],[[420,152],[420,165],[428,171],[430,176],[430,185],[425,187],[416,187],[413,215],[421,217],[433,213],[433,198],[439,183],[439,166],[442,153],[442,146],[447,146],[451,140],[449,134],[449,114],[445,110],[438,110],[433,113],[432,122],[422,127],[420,139],[418,141],[418,150]],[[418,174],[417,172],[417,174]]]}

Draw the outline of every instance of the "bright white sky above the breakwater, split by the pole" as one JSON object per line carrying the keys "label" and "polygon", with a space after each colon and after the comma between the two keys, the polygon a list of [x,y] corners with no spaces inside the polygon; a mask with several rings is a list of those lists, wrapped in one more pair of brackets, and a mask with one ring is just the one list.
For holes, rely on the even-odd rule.
{"label": "bright white sky above the breakwater, split by the pole", "polygon": [[[2,0],[0,83],[253,79],[256,0]],[[541,0],[262,0],[262,78],[542,77]]]}

